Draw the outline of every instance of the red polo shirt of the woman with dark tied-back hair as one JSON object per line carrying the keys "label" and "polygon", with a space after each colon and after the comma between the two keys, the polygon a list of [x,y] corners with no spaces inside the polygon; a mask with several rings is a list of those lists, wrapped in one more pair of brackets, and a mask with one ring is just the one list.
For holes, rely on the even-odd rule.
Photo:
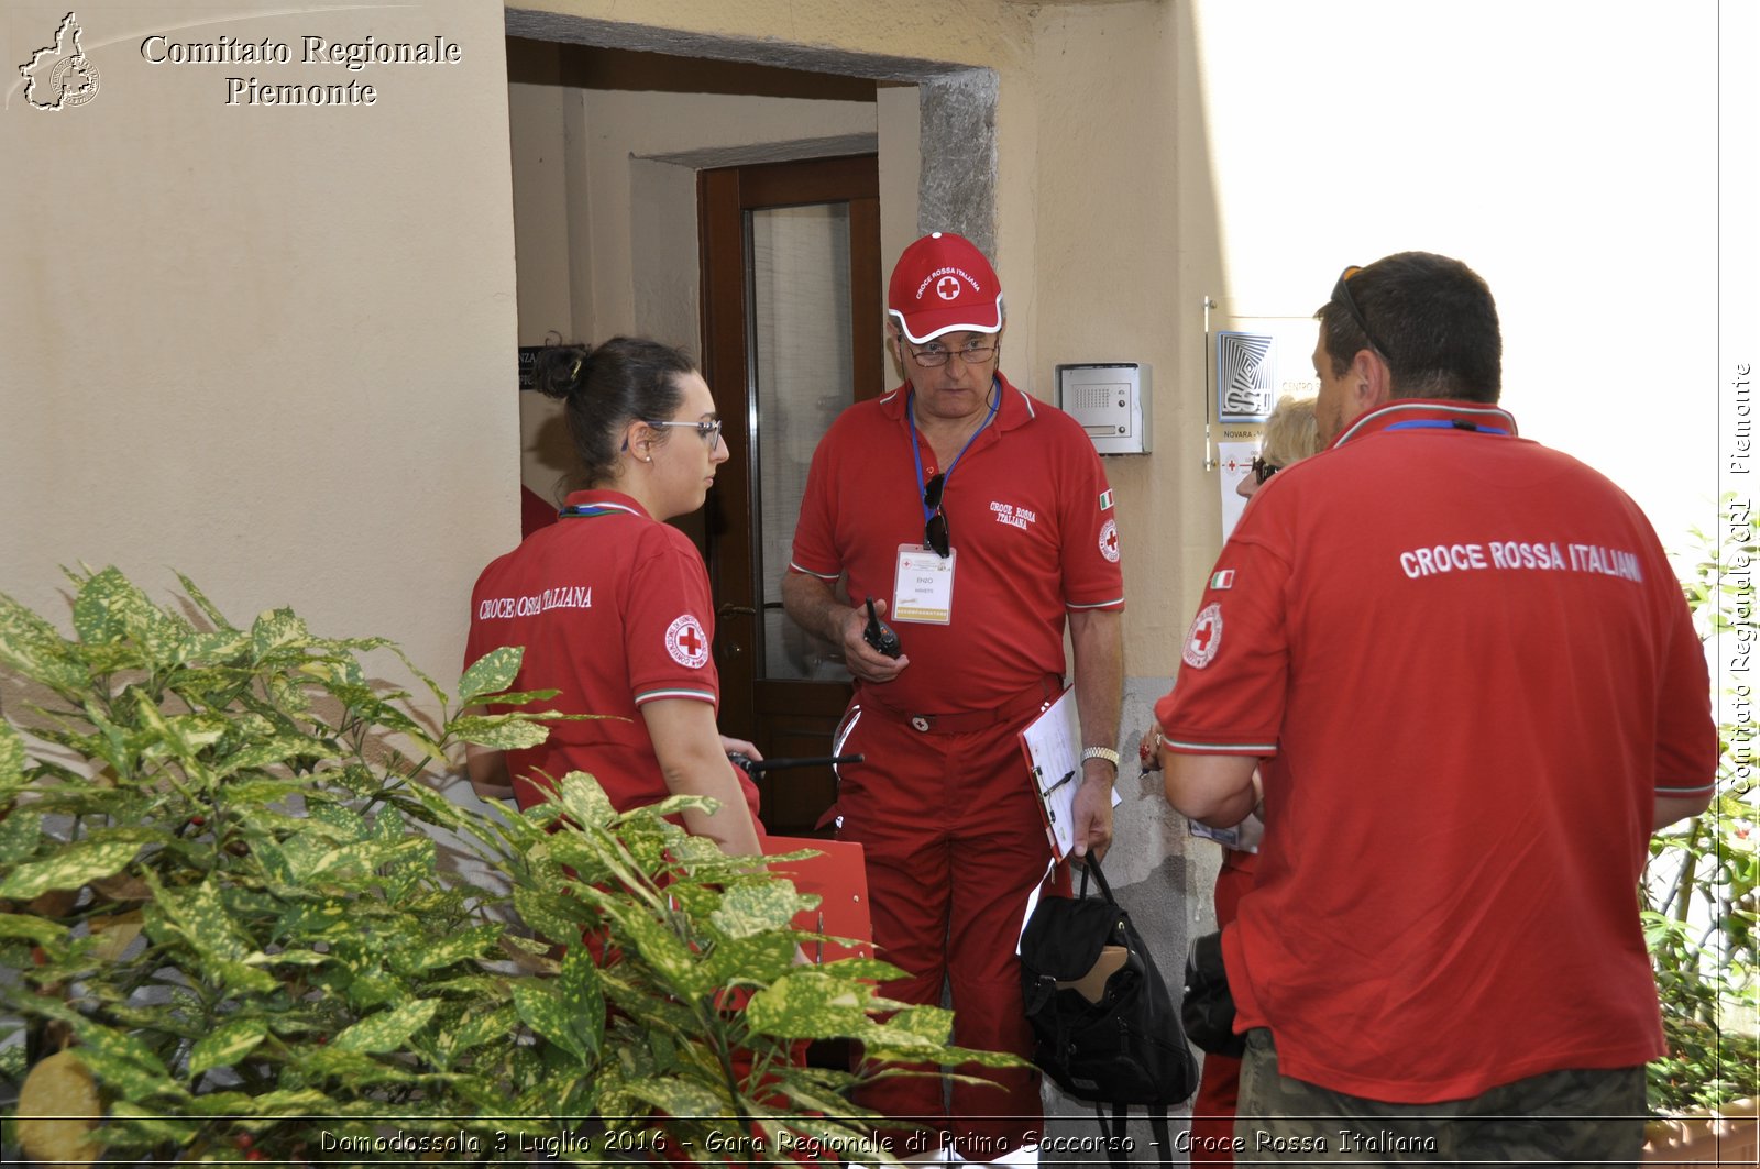
{"label": "red polo shirt of the woman with dark tied-back hair", "polygon": [[[561,690],[530,709],[611,715],[549,724],[549,739],[507,752],[521,808],[553,780],[586,771],[621,812],[665,799],[641,706],[720,704],[709,643],[715,607],[702,556],[678,528],[616,491],[576,491],[558,523],[491,562],[470,600],[465,664],[524,646],[514,690]],[[732,764],[729,764],[732,766]],[[757,817],[757,787],[739,771]]]}

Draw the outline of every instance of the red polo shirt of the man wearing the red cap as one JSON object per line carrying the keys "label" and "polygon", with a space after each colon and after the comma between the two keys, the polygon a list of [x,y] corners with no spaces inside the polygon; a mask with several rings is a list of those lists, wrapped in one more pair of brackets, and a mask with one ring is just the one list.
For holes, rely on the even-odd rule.
{"label": "red polo shirt of the man wearing the red cap", "polygon": [[[885,702],[912,711],[993,709],[1063,673],[1068,609],[1123,609],[1112,493],[1093,442],[1063,410],[996,379],[1001,403],[942,493],[954,562],[949,625],[896,621],[910,669]],[[892,607],[901,544],[922,546],[908,386],[861,401],[813,452],[790,569]],[[922,479],[938,470],[919,435]]]}

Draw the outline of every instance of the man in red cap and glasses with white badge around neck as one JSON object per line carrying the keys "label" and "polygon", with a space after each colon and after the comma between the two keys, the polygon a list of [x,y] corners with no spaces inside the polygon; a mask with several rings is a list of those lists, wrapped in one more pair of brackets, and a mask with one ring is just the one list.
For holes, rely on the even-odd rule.
{"label": "man in red cap and glasses with white badge around neck", "polygon": [[[998,371],[1001,287],[966,239],[935,232],[892,271],[887,331],[905,384],[845,410],[813,454],[783,579],[788,614],[855,676],[838,754],[838,836],[868,857],[880,956],[908,977],[882,993],[940,1004],[954,1040],[1030,1055],[1016,944],[1051,863],[1017,734],[1063,688],[1074,646],[1082,764],[1075,852],[1112,838],[1123,690],[1112,493],[1081,426]],[[838,579],[848,581],[848,600]],[[901,653],[869,646],[864,600]],[[891,1077],[861,1099],[936,1127],[989,1160],[1038,1129],[1038,1074],[952,1086]]]}

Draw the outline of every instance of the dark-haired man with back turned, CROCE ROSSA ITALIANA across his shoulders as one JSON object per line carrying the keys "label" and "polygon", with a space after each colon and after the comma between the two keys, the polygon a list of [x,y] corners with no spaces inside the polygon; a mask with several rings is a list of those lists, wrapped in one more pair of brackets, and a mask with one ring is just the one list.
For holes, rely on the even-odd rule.
{"label": "dark-haired man with back turned, CROCE ROSSA ITALIANA across his shoulders", "polygon": [[1236,1139],[1633,1162],[1663,1051],[1637,882],[1718,761],[1681,586],[1623,491],[1496,407],[1464,264],[1346,268],[1316,319],[1331,445],[1253,500],[1156,704],[1193,819],[1241,820],[1280,757],[1223,931]]}

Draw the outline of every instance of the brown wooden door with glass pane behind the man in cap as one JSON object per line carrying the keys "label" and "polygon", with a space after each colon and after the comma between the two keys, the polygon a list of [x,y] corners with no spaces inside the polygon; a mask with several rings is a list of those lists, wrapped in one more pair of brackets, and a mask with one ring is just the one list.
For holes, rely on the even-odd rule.
{"label": "brown wooden door with glass pane behind the man in cap", "polygon": [[[885,384],[875,155],[702,171],[704,377],[725,419],[704,558],[716,597],[722,729],[766,757],[831,754],[850,699],[832,646],[781,607],[801,488],[820,435]],[[764,822],[813,833],[831,768],[766,773]]]}

